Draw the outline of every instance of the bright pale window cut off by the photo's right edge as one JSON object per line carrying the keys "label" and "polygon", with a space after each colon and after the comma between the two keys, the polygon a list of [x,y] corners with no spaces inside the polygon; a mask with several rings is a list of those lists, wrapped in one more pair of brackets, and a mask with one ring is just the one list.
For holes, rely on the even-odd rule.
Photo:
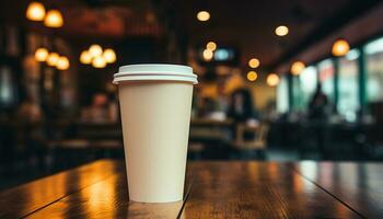
{"label": "bright pale window cut off by the photo's right edge", "polygon": [[365,45],[368,102],[383,101],[383,37]]}

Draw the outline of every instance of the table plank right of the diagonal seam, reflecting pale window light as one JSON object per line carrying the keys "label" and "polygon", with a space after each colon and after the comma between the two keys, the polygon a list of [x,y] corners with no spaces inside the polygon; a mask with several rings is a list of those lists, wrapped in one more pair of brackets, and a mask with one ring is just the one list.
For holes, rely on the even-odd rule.
{"label": "table plank right of the diagonal seam, reflecting pale window light", "polygon": [[300,174],[365,218],[383,218],[382,163],[301,162]]}

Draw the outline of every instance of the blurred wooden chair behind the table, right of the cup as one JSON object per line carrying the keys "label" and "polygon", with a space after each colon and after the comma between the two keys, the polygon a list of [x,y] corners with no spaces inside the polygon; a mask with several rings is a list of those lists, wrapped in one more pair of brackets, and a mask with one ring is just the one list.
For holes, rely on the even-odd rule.
{"label": "blurred wooden chair behind the table, right of the cup", "polygon": [[[267,147],[267,135],[269,131],[269,125],[267,123],[260,123],[258,126],[248,126],[246,124],[239,124],[236,126],[236,135],[234,140],[234,148],[240,151],[242,159],[256,158],[265,159],[265,150]],[[246,132],[254,132],[255,137],[247,140],[245,138]]]}

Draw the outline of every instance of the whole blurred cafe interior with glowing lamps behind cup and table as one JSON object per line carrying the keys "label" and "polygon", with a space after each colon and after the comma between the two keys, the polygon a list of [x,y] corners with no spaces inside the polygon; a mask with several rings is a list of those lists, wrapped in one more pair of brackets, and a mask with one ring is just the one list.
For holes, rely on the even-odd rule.
{"label": "whole blurred cafe interior with glowing lamps behind cup and table", "polygon": [[0,4],[0,189],[123,160],[129,64],[198,74],[189,160],[383,160],[382,1]]}

